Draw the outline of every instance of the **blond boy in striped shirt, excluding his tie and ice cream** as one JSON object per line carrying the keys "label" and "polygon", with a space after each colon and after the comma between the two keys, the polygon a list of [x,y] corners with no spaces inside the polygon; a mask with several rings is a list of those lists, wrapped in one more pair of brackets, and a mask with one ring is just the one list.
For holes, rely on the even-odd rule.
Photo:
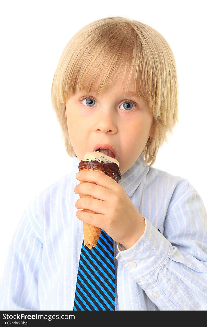
{"label": "blond boy in striped shirt, excluding his tie and ice cream", "polygon": [[[26,208],[1,310],[73,310],[83,222],[113,239],[115,310],[207,309],[203,201],[186,179],[152,167],[178,122],[177,85],[172,51],[150,26],[108,17],[73,36],[51,93],[73,170]],[[76,178],[85,153],[107,146],[121,180],[95,171]]]}

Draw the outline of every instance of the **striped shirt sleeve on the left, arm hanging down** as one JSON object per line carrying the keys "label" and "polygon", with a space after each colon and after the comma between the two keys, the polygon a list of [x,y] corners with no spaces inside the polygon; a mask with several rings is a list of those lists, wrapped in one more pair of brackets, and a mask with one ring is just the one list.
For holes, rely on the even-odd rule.
{"label": "striped shirt sleeve on the left, arm hanging down", "polygon": [[42,242],[28,211],[22,215],[9,246],[0,282],[1,310],[40,310],[38,275]]}

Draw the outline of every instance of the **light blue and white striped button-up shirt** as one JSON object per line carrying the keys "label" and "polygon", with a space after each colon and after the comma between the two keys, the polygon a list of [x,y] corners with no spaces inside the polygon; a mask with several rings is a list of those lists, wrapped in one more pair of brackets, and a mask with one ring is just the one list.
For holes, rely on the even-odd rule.
{"label": "light blue and white striped button-up shirt", "polygon": [[[73,310],[83,241],[71,172],[35,196],[13,235],[0,284],[1,310]],[[145,218],[129,249],[113,242],[115,310],[207,310],[207,213],[181,177],[143,154],[119,184]]]}

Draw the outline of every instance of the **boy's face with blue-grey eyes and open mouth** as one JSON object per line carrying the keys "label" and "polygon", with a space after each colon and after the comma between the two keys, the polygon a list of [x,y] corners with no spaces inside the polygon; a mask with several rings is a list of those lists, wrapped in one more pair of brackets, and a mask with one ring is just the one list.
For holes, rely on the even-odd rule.
{"label": "boy's face with blue-grey eyes and open mouth", "polygon": [[[124,98],[122,85],[122,81],[116,80],[99,96],[94,92],[96,87],[90,94],[78,92],[66,102],[66,117],[70,141],[79,161],[98,143],[111,144],[124,174],[141,154],[149,136],[153,137],[153,114],[147,102],[135,95],[129,93]],[[128,91],[135,91],[132,79]],[[91,96],[95,99],[91,100]]]}

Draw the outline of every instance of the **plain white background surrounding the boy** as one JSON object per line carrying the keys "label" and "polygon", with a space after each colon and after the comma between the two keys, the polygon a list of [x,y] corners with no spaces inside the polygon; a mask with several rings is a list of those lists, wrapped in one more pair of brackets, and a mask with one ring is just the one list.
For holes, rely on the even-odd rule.
{"label": "plain white background surrounding the boy", "polygon": [[71,171],[50,92],[61,53],[83,26],[123,16],[160,32],[177,65],[179,124],[153,167],[186,178],[207,209],[205,1],[5,1],[1,5],[0,276],[28,202]]}

